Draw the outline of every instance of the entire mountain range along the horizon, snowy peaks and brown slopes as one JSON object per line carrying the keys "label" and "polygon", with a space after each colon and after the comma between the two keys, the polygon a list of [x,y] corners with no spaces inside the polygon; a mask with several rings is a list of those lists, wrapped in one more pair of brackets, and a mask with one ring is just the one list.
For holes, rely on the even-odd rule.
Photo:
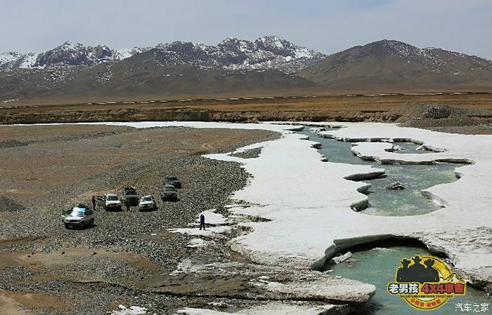
{"label": "entire mountain range along the horizon, snowy peaks and brown slopes", "polygon": [[491,60],[389,40],[328,56],[278,36],[119,50],[67,41],[43,53],[0,54],[0,101],[491,86]]}

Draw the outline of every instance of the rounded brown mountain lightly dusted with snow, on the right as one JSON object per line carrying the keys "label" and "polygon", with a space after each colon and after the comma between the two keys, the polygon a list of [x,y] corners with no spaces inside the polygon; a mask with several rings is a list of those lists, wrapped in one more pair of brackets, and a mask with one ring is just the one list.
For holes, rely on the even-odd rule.
{"label": "rounded brown mountain lightly dusted with snow, on the right", "polygon": [[329,55],[299,74],[347,90],[492,86],[490,60],[388,40]]}

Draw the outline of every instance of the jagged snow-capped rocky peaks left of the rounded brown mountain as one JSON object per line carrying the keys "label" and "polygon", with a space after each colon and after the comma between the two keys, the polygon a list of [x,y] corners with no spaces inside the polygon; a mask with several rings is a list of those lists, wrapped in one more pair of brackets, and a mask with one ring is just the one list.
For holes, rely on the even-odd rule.
{"label": "jagged snow-capped rocky peaks left of the rounded brown mountain", "polygon": [[[113,50],[105,45],[91,47],[67,41],[39,54],[3,53],[0,55],[0,70],[98,65],[102,62],[121,61],[150,49],[134,47]],[[296,72],[324,57],[322,53],[296,46],[278,36],[264,36],[256,41],[228,37],[217,46],[174,41],[160,43],[154,49],[156,58],[166,65],[280,69],[283,72]]]}

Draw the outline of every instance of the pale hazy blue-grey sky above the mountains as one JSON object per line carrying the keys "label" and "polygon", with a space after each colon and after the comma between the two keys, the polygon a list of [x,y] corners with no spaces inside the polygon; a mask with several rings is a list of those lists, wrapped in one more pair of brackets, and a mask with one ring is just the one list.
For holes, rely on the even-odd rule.
{"label": "pale hazy blue-grey sky above the mountains", "polygon": [[278,35],[330,54],[380,39],[492,59],[491,0],[0,0],[0,52]]}

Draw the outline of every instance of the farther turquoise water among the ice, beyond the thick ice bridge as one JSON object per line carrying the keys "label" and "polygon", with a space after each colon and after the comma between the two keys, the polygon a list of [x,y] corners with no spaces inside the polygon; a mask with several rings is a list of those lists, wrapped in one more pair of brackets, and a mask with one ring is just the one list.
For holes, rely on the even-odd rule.
{"label": "farther turquoise water among the ice, beyond the thick ice bridge", "polygon": [[[403,216],[430,213],[440,207],[422,196],[420,190],[457,180],[454,173],[457,166],[453,164],[382,165],[374,161],[359,159],[350,151],[350,142],[321,138],[316,134],[309,133],[307,128],[299,133],[308,135],[309,140],[321,142],[322,147],[319,152],[324,154],[330,162],[363,164],[386,170],[385,177],[365,180],[372,185],[368,191],[369,208],[362,211],[365,214]],[[417,145],[413,143],[399,142],[398,144],[401,146],[405,144],[406,149],[402,150],[402,153],[414,151],[432,154],[428,151],[417,151]],[[406,189],[387,189],[389,184],[397,181],[402,182]]]}

